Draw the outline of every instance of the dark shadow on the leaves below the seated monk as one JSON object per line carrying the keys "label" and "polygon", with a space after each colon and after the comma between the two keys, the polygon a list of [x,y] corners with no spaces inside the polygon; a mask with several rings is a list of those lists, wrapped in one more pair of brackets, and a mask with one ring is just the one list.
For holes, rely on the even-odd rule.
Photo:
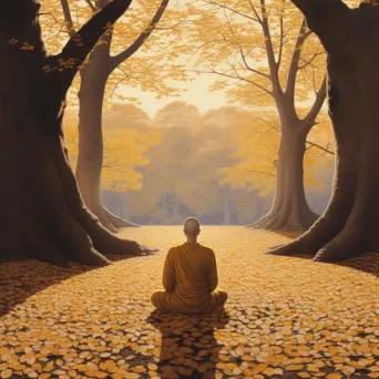
{"label": "dark shadow on the leaves below the seated monk", "polygon": [[147,318],[162,332],[158,375],[177,378],[215,378],[221,360],[215,331],[229,321],[226,311],[204,316],[164,314],[154,310]]}

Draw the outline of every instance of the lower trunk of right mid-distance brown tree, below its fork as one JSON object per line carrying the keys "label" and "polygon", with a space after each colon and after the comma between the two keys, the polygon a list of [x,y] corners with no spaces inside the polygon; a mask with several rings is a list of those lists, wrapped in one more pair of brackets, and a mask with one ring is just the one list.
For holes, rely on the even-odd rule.
{"label": "lower trunk of right mid-distance brown tree, below its fork", "polygon": [[304,190],[307,130],[303,125],[281,125],[273,207],[266,216],[252,224],[252,227],[306,231],[317,219],[318,216],[308,206]]}

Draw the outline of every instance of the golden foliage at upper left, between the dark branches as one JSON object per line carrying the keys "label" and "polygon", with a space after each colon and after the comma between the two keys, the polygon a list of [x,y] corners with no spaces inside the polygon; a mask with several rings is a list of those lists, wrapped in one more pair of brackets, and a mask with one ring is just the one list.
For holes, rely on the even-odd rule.
{"label": "golden foliage at upper left, between the dark branches", "polygon": [[[137,39],[146,32],[151,20],[161,6],[162,0],[137,0],[133,1],[130,9],[115,24],[112,34],[111,55],[115,57],[126,51]],[[73,29],[89,20],[93,13],[94,1],[69,0]],[[101,2],[100,2],[101,3]],[[66,41],[70,27],[64,20],[61,2],[55,0],[43,1],[41,9],[41,24],[44,41],[49,52],[59,51]],[[167,9],[158,24],[154,24],[154,32],[144,41],[142,47],[127,60],[119,64],[106,83],[105,104],[127,101],[137,102],[137,99],[129,96],[125,88],[139,88],[142,91],[152,91],[157,98],[174,96],[178,94],[176,86],[171,85],[168,80],[186,80],[186,75],[175,70],[176,63],[168,60],[172,50],[171,38],[177,34],[175,29],[171,30],[176,20],[177,11]],[[171,31],[170,31],[171,30]],[[167,34],[171,38],[167,38]],[[103,39],[98,45],[106,44]],[[91,63],[89,60],[85,64]],[[80,79],[76,76],[71,90],[71,105],[78,102],[76,92]]]}

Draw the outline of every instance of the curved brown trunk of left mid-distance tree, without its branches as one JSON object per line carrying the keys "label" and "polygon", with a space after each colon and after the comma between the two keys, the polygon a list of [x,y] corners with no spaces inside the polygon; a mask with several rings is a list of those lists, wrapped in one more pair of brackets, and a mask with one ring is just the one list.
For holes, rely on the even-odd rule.
{"label": "curved brown trunk of left mid-distance tree, without its branches", "polygon": [[120,227],[136,226],[107,211],[101,202],[101,172],[103,166],[102,116],[105,85],[111,72],[107,66],[112,33],[104,44],[90,54],[90,63],[80,71],[79,91],[79,154],[76,180],[85,205],[102,225],[115,233]]}

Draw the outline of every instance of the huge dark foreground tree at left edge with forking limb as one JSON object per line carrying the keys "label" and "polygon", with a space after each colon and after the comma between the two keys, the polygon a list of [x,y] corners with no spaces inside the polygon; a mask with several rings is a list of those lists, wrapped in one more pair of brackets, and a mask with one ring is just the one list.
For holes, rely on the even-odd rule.
{"label": "huge dark foreground tree at left edge with forking limb", "polygon": [[109,233],[84,206],[61,125],[75,72],[130,2],[111,2],[57,55],[44,49],[35,0],[2,3],[1,260],[34,257],[62,266],[69,260],[106,265],[101,253],[152,252]]}

